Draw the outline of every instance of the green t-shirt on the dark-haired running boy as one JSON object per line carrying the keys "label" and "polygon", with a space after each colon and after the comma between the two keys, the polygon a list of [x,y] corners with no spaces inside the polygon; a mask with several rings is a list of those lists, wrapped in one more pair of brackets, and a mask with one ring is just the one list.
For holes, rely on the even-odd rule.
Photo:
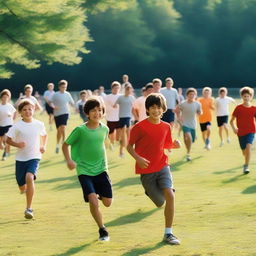
{"label": "green t-shirt on the dark-haired running boy", "polygon": [[108,131],[103,123],[96,129],[83,124],[76,127],[66,139],[65,142],[71,145],[71,158],[77,164],[77,175],[96,176],[108,170],[104,144]]}

